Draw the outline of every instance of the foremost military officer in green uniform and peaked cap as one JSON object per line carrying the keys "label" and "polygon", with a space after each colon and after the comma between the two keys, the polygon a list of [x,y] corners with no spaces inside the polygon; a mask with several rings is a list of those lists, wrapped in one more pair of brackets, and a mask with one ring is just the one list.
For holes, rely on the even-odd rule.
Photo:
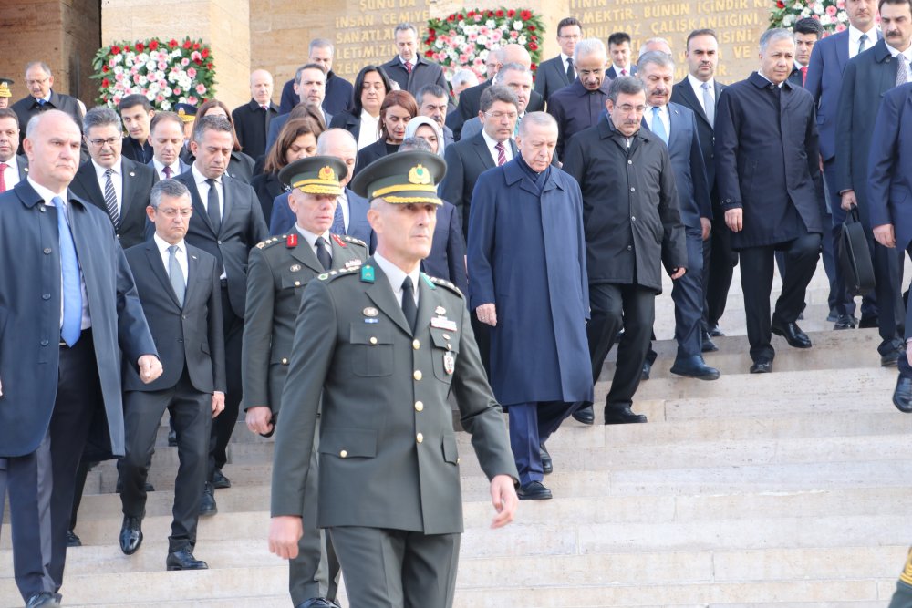
{"label": "foremost military officer in green uniform and peaked cap", "polygon": [[[376,160],[352,190],[370,203],[377,251],[311,281],[276,428],[270,551],[297,553],[322,397],[316,525],[328,529],[354,608],[452,605],[462,532],[447,395],[491,480],[492,527],[511,520],[517,478],[469,313],[451,283],[420,273],[446,165],[422,151]],[[311,526],[311,522],[305,522]]]}

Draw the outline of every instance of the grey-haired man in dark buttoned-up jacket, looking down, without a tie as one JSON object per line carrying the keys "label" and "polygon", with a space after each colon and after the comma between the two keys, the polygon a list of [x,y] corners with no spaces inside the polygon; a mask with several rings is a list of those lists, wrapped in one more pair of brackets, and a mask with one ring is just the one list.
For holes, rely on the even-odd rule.
{"label": "grey-haired man in dark buttoned-up jacket, looking down, without a tie", "polygon": [[574,49],[576,79],[548,98],[548,114],[557,120],[560,133],[557,154],[561,158],[564,158],[564,148],[574,133],[595,125],[605,110],[608,85],[611,83],[605,73],[607,63],[608,53],[601,40],[580,40]]}

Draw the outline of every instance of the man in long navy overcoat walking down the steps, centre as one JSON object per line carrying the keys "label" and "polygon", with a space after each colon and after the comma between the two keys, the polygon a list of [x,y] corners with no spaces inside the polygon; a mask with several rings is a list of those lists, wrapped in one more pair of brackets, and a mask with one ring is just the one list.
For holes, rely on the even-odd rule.
{"label": "man in long navy overcoat walking down the steps, centre", "polygon": [[551,167],[557,123],[527,114],[520,154],[482,173],[469,218],[470,308],[491,330],[491,386],[510,413],[520,499],[550,499],[541,446],[592,399],[579,186]]}

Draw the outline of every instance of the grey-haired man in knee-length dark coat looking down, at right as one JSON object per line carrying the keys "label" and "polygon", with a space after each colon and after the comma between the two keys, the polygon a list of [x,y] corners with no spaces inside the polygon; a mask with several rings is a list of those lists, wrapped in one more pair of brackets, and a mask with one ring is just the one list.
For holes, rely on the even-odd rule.
{"label": "grey-haired man in knee-length dark coat looking down, at right", "polygon": [[[814,98],[787,82],[794,53],[792,32],[764,32],[760,71],[722,91],[716,112],[716,180],[731,247],[741,254],[751,374],[772,372],[772,333],[811,347],[795,321],[820,252],[822,184]],[[786,263],[771,322],[776,251]]]}

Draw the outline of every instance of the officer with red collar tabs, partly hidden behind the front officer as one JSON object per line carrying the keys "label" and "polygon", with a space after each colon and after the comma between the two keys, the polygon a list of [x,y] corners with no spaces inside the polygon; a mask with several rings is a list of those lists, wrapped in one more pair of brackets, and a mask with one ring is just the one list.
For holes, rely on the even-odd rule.
{"label": "officer with red collar tabs, partly hidden behind the front officer", "polygon": [[[322,273],[358,268],[368,258],[364,242],[329,232],[342,191],[339,180],[346,174],[344,162],[326,156],[286,166],[279,179],[293,189],[289,207],[297,218],[295,227],[250,252],[242,366],[246,423],[254,433],[271,435],[277,422],[306,284]],[[316,449],[311,462],[316,472]],[[316,528],[316,475],[308,479],[304,496],[307,527],[297,557],[288,564],[289,592],[298,608],[329,608],[336,605],[331,601],[339,569],[331,543],[326,551]],[[328,578],[320,567],[327,552]]]}

